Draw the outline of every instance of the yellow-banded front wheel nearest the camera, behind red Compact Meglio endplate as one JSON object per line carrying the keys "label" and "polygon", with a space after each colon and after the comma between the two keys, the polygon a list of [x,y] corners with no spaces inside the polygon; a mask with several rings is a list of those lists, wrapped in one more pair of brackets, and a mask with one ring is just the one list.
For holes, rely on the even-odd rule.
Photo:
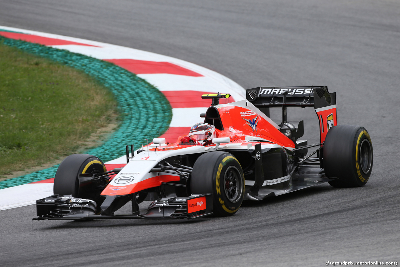
{"label": "yellow-banded front wheel nearest the camera, behind red Compact Meglio endplate", "polygon": [[205,153],[194,163],[190,189],[193,194],[212,194],[214,216],[233,215],[244,197],[242,167],[230,153]]}

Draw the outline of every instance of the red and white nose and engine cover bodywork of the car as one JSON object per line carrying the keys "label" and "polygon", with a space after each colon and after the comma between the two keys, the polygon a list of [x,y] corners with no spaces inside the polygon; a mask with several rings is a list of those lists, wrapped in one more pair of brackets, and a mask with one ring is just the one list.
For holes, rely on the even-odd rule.
{"label": "red and white nose and engine cover bodywork of the car", "polygon": [[210,151],[254,150],[254,144],[262,143],[262,149],[294,149],[295,144],[282,134],[269,117],[260,112],[252,103],[242,100],[214,107],[220,114],[222,129],[216,129],[217,138],[229,138],[229,143],[199,145],[180,145],[180,136],[172,144],[151,144],[134,156],[103,190],[102,195],[127,195],[160,186],[162,182],[179,181],[179,174],[152,172],[153,168],[168,158],[180,155],[202,154]]}

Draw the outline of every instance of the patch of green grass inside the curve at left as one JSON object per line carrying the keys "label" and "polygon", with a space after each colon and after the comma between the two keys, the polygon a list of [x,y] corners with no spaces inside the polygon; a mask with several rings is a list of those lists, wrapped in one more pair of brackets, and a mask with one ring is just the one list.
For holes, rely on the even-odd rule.
{"label": "patch of green grass inside the curve at left", "polygon": [[80,152],[117,117],[95,79],[0,43],[0,177]]}

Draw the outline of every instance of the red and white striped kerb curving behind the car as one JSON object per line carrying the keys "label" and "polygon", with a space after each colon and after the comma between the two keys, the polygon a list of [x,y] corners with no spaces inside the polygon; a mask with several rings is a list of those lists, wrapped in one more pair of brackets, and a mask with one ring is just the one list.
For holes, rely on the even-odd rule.
{"label": "red and white striped kerb curving behind the car", "polygon": [[[63,49],[93,59],[111,62],[130,73],[135,73],[137,77],[156,87],[172,108],[170,125],[167,125],[168,133],[161,135],[161,138],[176,140],[178,136],[187,134],[192,125],[202,120],[199,116],[200,113],[205,112],[210,105],[209,99],[200,98],[204,93],[230,93],[232,97],[227,99],[226,103],[245,99],[244,88],[234,81],[215,71],[180,59],[114,44],[6,26],[0,26],[0,36],[12,40],[38,43],[46,47]],[[123,92],[122,95],[125,97],[124,101],[128,101],[129,95],[126,95],[126,92]],[[221,103],[223,102],[221,101]],[[125,132],[133,130],[129,127],[124,128]],[[104,148],[99,147],[97,152],[99,149],[103,150]],[[92,152],[96,151],[88,153]],[[123,156],[119,157],[118,155],[105,162],[108,170],[118,168],[126,163],[124,146],[121,146],[120,152],[119,155]],[[98,154],[94,155],[99,156]],[[46,173],[47,177],[42,176],[43,179],[36,179],[38,181],[30,183],[28,181],[28,183],[7,187],[4,182],[8,181],[8,184],[12,184],[13,182],[10,183],[10,181],[13,179],[0,182],[0,188],[7,187],[0,190],[0,210],[35,204],[37,199],[53,194],[55,170],[56,166]],[[15,181],[18,178],[14,178]],[[26,179],[19,180],[26,181],[27,179],[29,180],[29,174]]]}

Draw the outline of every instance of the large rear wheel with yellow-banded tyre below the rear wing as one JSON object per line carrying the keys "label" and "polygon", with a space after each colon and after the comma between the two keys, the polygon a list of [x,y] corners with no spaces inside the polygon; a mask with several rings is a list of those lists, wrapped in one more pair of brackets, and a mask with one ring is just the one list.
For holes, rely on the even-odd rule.
{"label": "large rear wheel with yellow-banded tyre below the rear wing", "polygon": [[356,125],[337,125],[326,134],[324,169],[334,187],[358,187],[368,182],[373,162],[372,142],[368,131]]}

